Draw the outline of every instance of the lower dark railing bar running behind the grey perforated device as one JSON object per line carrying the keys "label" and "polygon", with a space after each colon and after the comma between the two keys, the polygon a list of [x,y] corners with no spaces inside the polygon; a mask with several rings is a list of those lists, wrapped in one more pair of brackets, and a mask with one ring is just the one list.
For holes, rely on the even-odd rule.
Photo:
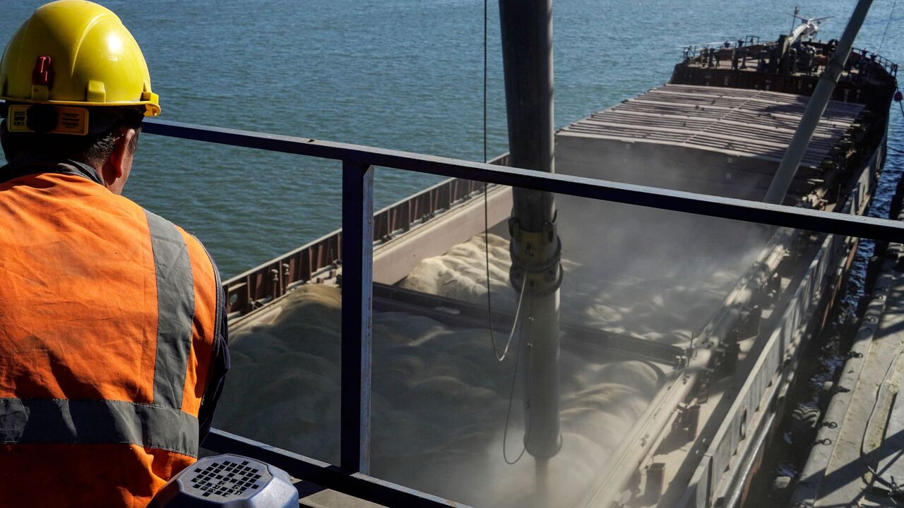
{"label": "lower dark railing bar running behind the grey perforated device", "polygon": [[248,456],[284,469],[289,475],[324,488],[352,495],[384,506],[412,506],[423,508],[468,508],[465,504],[425,494],[414,489],[392,484],[360,473],[349,474],[337,466],[301,456],[278,447],[236,436],[212,428],[204,439],[203,447],[217,453]]}

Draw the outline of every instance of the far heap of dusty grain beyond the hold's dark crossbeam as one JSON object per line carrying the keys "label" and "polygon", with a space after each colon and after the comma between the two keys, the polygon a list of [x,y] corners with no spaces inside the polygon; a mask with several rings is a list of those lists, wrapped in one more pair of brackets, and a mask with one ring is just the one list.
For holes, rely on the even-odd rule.
{"label": "far heap of dusty grain beyond the hold's dark crossbeam", "polygon": [[[567,205],[560,205],[563,212]],[[766,229],[676,213],[664,221],[654,216],[665,212],[638,212],[603,215],[620,221],[617,227],[603,221],[585,230],[560,229],[567,257],[561,321],[686,345],[756,259]],[[493,234],[488,240],[493,306],[513,313],[518,295],[509,285],[509,241]],[[399,286],[485,304],[483,235],[424,259]]]}

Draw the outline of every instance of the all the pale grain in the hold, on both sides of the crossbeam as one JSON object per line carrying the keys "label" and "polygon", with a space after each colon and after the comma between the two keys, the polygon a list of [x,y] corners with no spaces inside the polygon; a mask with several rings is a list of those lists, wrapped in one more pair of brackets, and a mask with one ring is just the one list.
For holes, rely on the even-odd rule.
{"label": "all the pale grain in the hold, on both sides of the crossbeam", "polygon": [[[767,238],[758,225],[586,200],[559,200],[561,321],[685,345],[718,310]],[[494,308],[513,312],[509,242],[489,236]],[[478,235],[423,259],[401,287],[484,304]],[[233,369],[215,425],[335,463],[340,291],[297,287],[275,317],[233,334]],[[265,322],[266,321],[266,322]],[[508,330],[499,330],[501,348]],[[496,362],[485,328],[373,315],[371,474],[475,506],[575,506],[647,409],[664,372],[563,337],[562,448],[541,494],[523,448],[523,369]],[[528,429],[529,430],[529,429]]]}

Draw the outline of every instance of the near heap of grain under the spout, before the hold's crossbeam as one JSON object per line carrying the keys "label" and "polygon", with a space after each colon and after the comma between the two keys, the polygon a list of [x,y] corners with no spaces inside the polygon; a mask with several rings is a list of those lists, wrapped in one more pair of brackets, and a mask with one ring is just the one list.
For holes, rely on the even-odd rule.
{"label": "near heap of grain under the spout, before the hold's crossbeam", "polygon": [[[308,285],[271,323],[235,333],[215,425],[335,463],[340,312],[338,289]],[[562,352],[562,450],[550,463],[553,501],[543,501],[532,458],[508,466],[503,457],[514,354],[496,362],[487,330],[401,313],[376,313],[373,340],[372,475],[476,506],[577,503],[661,375],[645,362]],[[510,459],[523,447],[522,422],[519,382]]]}

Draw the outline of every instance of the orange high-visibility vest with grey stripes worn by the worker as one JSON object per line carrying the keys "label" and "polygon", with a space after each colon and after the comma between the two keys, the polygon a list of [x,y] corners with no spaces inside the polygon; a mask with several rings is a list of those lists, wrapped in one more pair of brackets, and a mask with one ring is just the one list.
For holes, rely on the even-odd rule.
{"label": "orange high-visibility vest with grey stripes worn by the worker", "polygon": [[217,270],[88,165],[5,178],[0,506],[144,507],[198,454]]}

